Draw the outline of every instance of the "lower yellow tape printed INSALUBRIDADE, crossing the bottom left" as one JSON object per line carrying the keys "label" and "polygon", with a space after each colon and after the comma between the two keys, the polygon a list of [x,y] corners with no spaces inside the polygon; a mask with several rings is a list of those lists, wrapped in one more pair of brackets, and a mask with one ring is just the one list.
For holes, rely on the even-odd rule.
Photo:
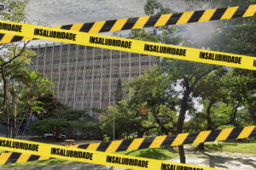
{"label": "lower yellow tape printed INSALUBRIDADE, crossing the bottom left", "polygon": [[19,153],[33,154],[36,156],[54,157],[69,161],[82,161],[111,167],[124,167],[129,169],[187,169],[187,170],[213,170],[217,168],[201,167],[171,161],[160,161],[137,156],[125,156],[113,153],[105,153],[94,150],[65,147],[55,144],[43,144],[20,139],[8,139],[0,137],[0,150],[15,151]]}

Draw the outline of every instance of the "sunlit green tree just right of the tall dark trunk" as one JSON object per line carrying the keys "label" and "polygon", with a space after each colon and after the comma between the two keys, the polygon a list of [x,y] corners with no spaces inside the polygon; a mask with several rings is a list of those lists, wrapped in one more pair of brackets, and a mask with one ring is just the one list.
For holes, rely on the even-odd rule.
{"label": "sunlit green tree just right of the tall dark trunk", "polygon": [[[233,71],[214,71],[198,84],[193,96],[199,98],[204,110],[189,120],[195,130],[215,130],[236,121],[239,108],[245,102],[241,91],[246,91],[243,89],[246,86],[242,79],[234,77]],[[199,149],[204,150],[204,144],[200,144]]]}

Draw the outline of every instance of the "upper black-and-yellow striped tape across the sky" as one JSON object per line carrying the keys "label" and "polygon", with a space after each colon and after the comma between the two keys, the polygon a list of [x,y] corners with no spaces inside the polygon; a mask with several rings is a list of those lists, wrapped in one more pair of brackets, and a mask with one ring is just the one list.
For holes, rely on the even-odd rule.
{"label": "upper black-and-yellow striped tape across the sky", "polygon": [[[256,4],[247,7],[212,8],[206,10],[189,11],[177,14],[161,14],[119,20],[104,20],[90,23],[80,23],[54,28],[82,31],[90,33],[134,30],[147,27],[181,25],[187,23],[204,22],[209,20],[229,20],[234,18],[251,17],[256,12]],[[0,39],[7,42],[32,40],[29,37],[0,34]]]}

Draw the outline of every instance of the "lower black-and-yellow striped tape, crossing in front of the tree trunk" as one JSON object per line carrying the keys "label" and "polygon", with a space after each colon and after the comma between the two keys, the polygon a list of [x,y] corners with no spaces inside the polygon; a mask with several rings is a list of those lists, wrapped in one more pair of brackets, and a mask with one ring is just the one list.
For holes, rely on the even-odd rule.
{"label": "lower black-and-yellow striped tape, crossing in front of the tree trunk", "polygon": [[[199,133],[180,133],[177,135],[157,136],[153,138],[114,140],[111,142],[79,144],[74,148],[84,150],[96,150],[103,152],[118,152],[160,148],[164,146],[177,146],[183,144],[198,144],[205,142],[217,142],[229,139],[247,139],[256,137],[256,127],[236,127]],[[27,155],[16,152],[3,153],[0,155],[0,165],[26,161],[48,160],[49,157]]]}

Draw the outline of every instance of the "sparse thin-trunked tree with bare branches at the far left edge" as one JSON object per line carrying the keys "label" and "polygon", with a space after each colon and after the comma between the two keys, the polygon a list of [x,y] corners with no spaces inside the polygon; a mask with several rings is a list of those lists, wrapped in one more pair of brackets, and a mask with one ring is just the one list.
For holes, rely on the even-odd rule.
{"label": "sparse thin-trunked tree with bare branches at the far left edge", "polygon": [[[15,22],[26,22],[25,8],[27,1],[11,1],[11,0],[1,0],[5,6],[9,6],[7,10],[1,11],[1,20],[9,20]],[[26,65],[29,63],[27,56],[33,56],[34,53],[31,50],[26,50],[26,44],[28,42],[11,42],[8,44],[3,44],[0,49],[6,51],[0,56],[0,74],[1,74],[1,95],[2,102],[0,106],[0,111],[5,114],[7,125],[6,137],[13,137],[13,129],[9,127],[13,124],[11,121],[11,116],[15,116],[16,108],[16,96],[15,96],[15,70],[19,69],[21,65]],[[12,115],[11,115],[12,114]]]}

